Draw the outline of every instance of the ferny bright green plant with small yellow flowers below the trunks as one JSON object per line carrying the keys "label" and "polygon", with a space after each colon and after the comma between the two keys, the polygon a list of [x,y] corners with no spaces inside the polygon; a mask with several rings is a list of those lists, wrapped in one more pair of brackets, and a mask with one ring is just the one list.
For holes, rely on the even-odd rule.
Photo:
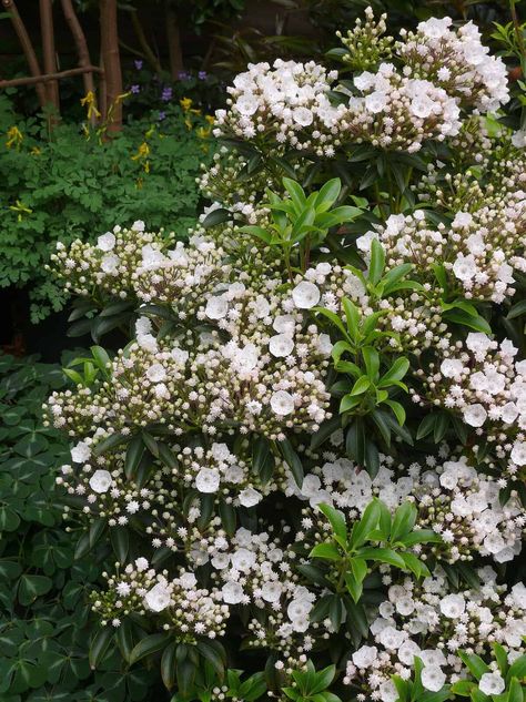
{"label": "ferny bright green plant with small yellow flowers below the trunks", "polygon": [[28,286],[37,322],[62,306],[44,263],[57,241],[90,240],[138,218],[184,236],[199,201],[195,177],[210,125],[198,111],[166,108],[121,134],[14,114],[0,99],[0,286]]}

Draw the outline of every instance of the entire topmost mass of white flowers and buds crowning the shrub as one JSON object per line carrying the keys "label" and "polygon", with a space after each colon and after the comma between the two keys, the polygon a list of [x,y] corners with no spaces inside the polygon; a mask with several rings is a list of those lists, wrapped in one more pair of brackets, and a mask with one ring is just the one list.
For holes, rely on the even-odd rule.
{"label": "entire topmost mass of white flowers and buds crowning the shrub", "polygon": [[[227,110],[216,112],[215,134],[325,157],[362,142],[413,153],[425,140],[457,135],[461,109],[488,112],[507,102],[506,67],[489,55],[473,23],[454,31],[449,18],[421,22],[416,33],[402,32],[391,63],[385,59],[393,39],[382,38],[385,17],[374,23],[371,9],[366,14],[363,27],[338,34],[348,49],[343,61],[367,69],[354,78],[361,96],[336,85],[336,71],[314,62],[250,64],[229,89]],[[334,89],[348,101],[331,102]]]}

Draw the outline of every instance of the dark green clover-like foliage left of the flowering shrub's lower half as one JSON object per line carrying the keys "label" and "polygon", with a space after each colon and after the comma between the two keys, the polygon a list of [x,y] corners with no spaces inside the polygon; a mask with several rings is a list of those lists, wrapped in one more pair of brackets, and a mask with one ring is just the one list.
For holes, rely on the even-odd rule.
{"label": "dark green clover-like foliage left of the flowering shrub's lower half", "polygon": [[75,552],[78,533],[60,526],[54,472],[68,446],[42,426],[41,405],[63,386],[59,365],[0,357],[0,700],[144,700],[156,675],[121,672],[118,648],[102,670],[90,667],[85,593],[109,551]]}

